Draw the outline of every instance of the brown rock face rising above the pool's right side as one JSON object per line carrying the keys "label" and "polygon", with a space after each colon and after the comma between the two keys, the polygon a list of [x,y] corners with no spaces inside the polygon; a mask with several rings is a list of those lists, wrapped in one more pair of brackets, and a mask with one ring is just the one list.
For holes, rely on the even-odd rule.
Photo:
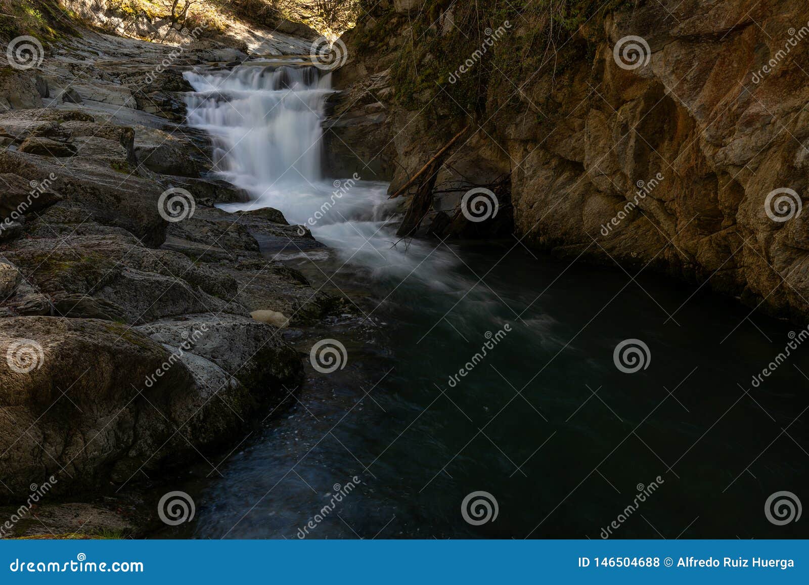
{"label": "brown rock face rising above the pool's right side", "polygon": [[[463,42],[460,32],[434,27],[421,35],[390,10],[378,9],[345,36],[350,60],[335,78],[347,88],[338,101],[363,85],[377,88],[381,108],[373,108],[384,119],[362,131],[379,138],[356,150],[363,164],[392,158],[379,169],[389,170],[395,191],[470,118],[459,111],[465,78],[451,83],[436,73],[443,55],[430,53],[437,36]],[[586,15],[549,57],[541,57],[548,35],[538,8],[475,56],[466,75],[483,80],[480,109],[463,144],[435,171],[434,191],[463,193],[506,177],[515,234],[526,244],[571,259],[650,266],[805,319],[809,214],[799,211],[809,195],[809,82],[800,64],[809,45],[799,39],[809,34],[806,3],[663,0]],[[447,18],[457,22],[459,7]],[[422,74],[441,77],[397,86],[397,64],[414,60]],[[345,121],[370,121],[367,103],[343,105],[331,121],[337,138],[353,132]],[[447,197],[436,193],[432,209],[441,206]]]}

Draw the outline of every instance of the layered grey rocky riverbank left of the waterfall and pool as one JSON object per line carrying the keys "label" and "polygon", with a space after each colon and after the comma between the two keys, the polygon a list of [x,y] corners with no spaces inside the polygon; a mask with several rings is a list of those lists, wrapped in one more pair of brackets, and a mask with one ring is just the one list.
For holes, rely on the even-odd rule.
{"label": "layered grey rocky riverbank left of the waterfall and pool", "polygon": [[0,72],[3,536],[137,528],[151,511],[98,498],[233,448],[300,384],[290,328],[342,309],[276,259],[307,230],[214,207],[245,194],[183,124],[184,70],[311,40],[187,41],[81,30]]}

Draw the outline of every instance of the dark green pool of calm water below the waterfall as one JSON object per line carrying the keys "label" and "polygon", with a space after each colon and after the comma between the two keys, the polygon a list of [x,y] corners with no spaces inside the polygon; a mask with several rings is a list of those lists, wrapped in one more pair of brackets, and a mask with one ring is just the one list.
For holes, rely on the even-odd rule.
{"label": "dark green pool of calm water below the waterfall", "polygon": [[[354,476],[307,537],[595,539],[653,481],[612,537],[809,536],[805,520],[765,515],[781,490],[809,501],[809,348],[751,384],[797,327],[733,299],[689,299],[696,285],[635,283],[514,241],[441,248],[404,282],[344,267],[326,283],[359,316],[290,341],[304,352],[341,341],[345,369],[320,374],[307,360],[281,418],[228,456],[222,477],[188,482],[197,516],[173,536],[296,538]],[[320,285],[342,261],[296,264]],[[613,362],[629,338],[650,350],[633,374]],[[461,511],[476,491],[498,504],[479,526]]]}

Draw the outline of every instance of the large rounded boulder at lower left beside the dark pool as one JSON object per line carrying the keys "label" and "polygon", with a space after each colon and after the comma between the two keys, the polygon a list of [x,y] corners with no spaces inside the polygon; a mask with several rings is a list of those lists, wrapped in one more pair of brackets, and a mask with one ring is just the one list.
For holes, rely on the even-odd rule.
{"label": "large rounded boulder at lower left beside the dark pool", "polygon": [[[212,317],[214,327],[227,329]],[[204,319],[189,324],[191,338],[197,338],[193,326]],[[250,332],[248,343],[261,334],[257,328],[270,329],[251,323],[252,329],[236,328]],[[204,343],[210,341],[195,346],[203,350]],[[24,498],[29,485],[52,475],[53,494],[106,489],[109,481],[124,483],[140,469],[150,473],[169,456],[174,464],[196,457],[195,449],[240,430],[259,405],[286,396],[284,387],[296,383],[302,368],[294,351],[269,345],[261,357],[281,361],[256,363],[253,377],[242,375],[248,386],[223,376],[224,384],[209,388],[198,383],[179,352],[172,357],[166,347],[123,324],[61,317],[0,320],[0,353],[11,355],[0,360],[0,481],[11,490],[0,498]],[[220,361],[235,359],[231,350]]]}

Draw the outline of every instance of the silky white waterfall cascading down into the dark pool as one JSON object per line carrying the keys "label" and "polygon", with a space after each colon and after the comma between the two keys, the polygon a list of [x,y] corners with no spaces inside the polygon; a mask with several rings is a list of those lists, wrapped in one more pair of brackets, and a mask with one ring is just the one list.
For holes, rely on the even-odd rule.
{"label": "silky white waterfall cascading down into the dark pool", "polygon": [[450,253],[419,242],[406,253],[394,247],[387,183],[324,180],[321,124],[333,91],[330,73],[304,65],[252,65],[186,72],[185,78],[196,90],[186,96],[188,124],[213,138],[215,171],[253,197],[223,210],[282,210],[290,223],[309,227],[346,261],[443,286],[440,272],[455,264]]}

